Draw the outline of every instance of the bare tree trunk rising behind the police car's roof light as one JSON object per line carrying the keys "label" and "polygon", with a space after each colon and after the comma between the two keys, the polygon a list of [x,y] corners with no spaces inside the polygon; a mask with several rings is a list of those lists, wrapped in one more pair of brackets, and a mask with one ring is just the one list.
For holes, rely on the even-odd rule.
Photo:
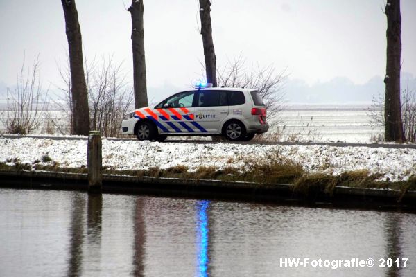
{"label": "bare tree trunk rising behind the police car's roof light", "polygon": [[211,1],[200,1],[200,17],[201,17],[201,35],[202,44],[204,44],[205,71],[207,73],[207,83],[211,83],[213,87],[217,87],[216,81],[216,56],[214,42],[212,40],[211,26]]}

